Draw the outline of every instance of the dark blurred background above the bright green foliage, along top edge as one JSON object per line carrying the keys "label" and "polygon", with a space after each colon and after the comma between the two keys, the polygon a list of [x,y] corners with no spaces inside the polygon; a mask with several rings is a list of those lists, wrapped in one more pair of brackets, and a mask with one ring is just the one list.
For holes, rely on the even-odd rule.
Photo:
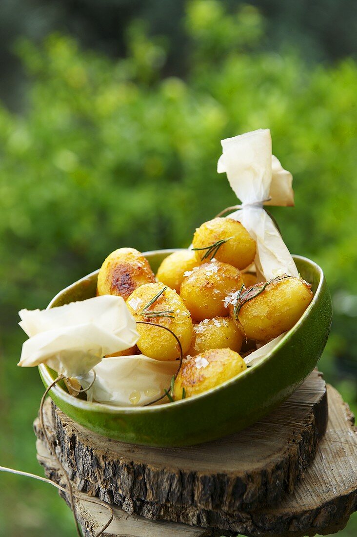
{"label": "dark blurred background above the bright green foliage, along top edge", "polygon": [[[355,54],[355,0],[248,0],[264,13],[266,32],[260,48],[279,50],[288,38],[308,62]],[[220,0],[234,13],[246,0]],[[53,31],[69,33],[84,47],[112,57],[125,54],[124,31],[133,18],[147,21],[150,34],[170,41],[165,75],[186,72],[192,52],[182,19],[186,0],[2,0],[0,17],[0,98],[14,110],[23,105],[23,71],[11,45],[19,35],[40,42]]]}

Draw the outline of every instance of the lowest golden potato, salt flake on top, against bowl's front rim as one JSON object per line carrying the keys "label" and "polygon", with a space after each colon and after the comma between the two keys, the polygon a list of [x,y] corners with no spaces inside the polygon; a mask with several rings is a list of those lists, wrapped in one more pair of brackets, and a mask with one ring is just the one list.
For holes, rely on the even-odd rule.
{"label": "lowest golden potato, salt flake on top, against bowl's front rim", "polygon": [[[230,349],[214,349],[186,358],[173,388],[174,399],[201,394],[242,373],[243,358]],[[185,390],[185,391],[184,391]]]}

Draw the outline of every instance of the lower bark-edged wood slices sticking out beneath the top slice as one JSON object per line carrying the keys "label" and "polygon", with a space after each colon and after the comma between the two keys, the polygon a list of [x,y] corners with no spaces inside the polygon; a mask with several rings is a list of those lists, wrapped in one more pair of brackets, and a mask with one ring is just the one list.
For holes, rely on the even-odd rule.
{"label": "lower bark-edged wood slices sticking out beneath the top slice", "polygon": [[[295,487],[294,492],[286,495],[279,504],[260,507],[251,512],[239,510],[228,513],[188,505],[124,499],[121,504],[123,510],[135,511],[133,520],[138,519],[137,514],[142,514],[149,519],[165,519],[207,528],[208,533],[203,533],[203,535],[214,535],[215,530],[218,529],[220,530],[218,535],[241,533],[252,537],[303,537],[316,533],[329,534],[342,529],[351,513],[357,508],[357,435],[353,426],[353,416],[341,396],[331,386],[327,387],[327,393],[330,409],[329,422],[325,436],[320,441],[316,458],[307,469],[304,479]],[[48,410],[47,405],[46,429],[54,438],[56,434],[54,415]],[[38,422],[35,424],[35,430],[41,438],[42,433]],[[60,447],[60,445],[57,446],[57,454],[61,456]],[[81,455],[78,454],[78,456]],[[54,469],[53,461],[48,456],[44,457],[40,454],[39,461],[50,478],[60,481],[58,468]],[[85,491],[89,496],[96,494],[111,504],[120,505],[118,497],[103,487],[103,483],[92,483],[74,471],[69,470],[69,473],[78,490]],[[84,493],[83,497],[85,497]],[[119,519],[125,518],[123,511],[117,509],[116,513],[119,513]],[[98,525],[106,520],[104,510],[98,513],[92,508],[89,509],[88,506],[83,507],[80,514],[82,523],[87,528],[85,535],[89,537],[92,537],[98,530]],[[128,520],[132,519],[128,518]],[[159,529],[163,526],[150,524],[141,528],[144,533],[135,533],[134,529],[136,531],[137,528],[135,523],[133,531],[129,534],[135,537],[136,535],[151,537],[154,531],[155,535],[161,535]],[[167,534],[171,535],[171,527],[165,526],[165,528]],[[187,526],[176,526],[174,529],[186,532]],[[104,535],[119,537],[127,534],[114,525],[110,526]],[[180,534],[172,533],[172,535],[176,537]],[[183,533],[182,535],[190,534]],[[193,533],[192,535],[202,534]]]}

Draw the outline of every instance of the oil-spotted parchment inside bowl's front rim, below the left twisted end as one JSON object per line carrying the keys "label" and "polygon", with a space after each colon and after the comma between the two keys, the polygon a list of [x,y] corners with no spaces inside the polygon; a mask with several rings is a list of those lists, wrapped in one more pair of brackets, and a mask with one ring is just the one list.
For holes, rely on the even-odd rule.
{"label": "oil-spotted parchment inside bowl's front rim, below the left twisted end", "polygon": [[[105,358],[93,368],[96,379],[86,392],[87,399],[118,407],[142,406],[170,388],[178,367],[177,360],[163,362],[143,354]],[[87,388],[92,381],[91,372],[82,379],[82,386]]]}

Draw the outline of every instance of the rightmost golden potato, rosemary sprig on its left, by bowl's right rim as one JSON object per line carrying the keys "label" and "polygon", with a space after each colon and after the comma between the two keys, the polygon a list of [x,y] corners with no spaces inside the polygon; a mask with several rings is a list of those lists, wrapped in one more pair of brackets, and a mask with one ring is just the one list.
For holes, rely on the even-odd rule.
{"label": "rightmost golden potato, rosemary sprig on its left, by bowl's right rim", "polygon": [[239,311],[238,321],[246,337],[264,343],[290,330],[314,296],[310,287],[294,277],[268,284]]}

